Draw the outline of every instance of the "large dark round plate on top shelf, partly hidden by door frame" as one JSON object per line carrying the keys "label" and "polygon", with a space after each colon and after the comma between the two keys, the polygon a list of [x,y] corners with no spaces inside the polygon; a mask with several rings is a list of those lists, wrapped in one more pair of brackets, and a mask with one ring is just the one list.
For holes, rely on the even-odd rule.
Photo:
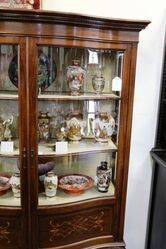
{"label": "large dark round plate on top shelf, partly hidden by door frame", "polygon": [[[18,87],[18,56],[15,55],[9,64],[8,75],[11,82]],[[57,67],[51,63],[49,57],[40,52],[38,57],[38,86],[41,91],[46,90],[55,80]]]}

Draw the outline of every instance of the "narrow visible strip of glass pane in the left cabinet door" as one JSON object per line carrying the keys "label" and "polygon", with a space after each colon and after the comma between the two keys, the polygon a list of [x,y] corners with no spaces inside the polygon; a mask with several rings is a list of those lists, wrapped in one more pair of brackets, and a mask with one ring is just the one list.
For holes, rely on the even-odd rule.
{"label": "narrow visible strip of glass pane in the left cabinet door", "polygon": [[0,45],[0,206],[20,206],[18,47]]}

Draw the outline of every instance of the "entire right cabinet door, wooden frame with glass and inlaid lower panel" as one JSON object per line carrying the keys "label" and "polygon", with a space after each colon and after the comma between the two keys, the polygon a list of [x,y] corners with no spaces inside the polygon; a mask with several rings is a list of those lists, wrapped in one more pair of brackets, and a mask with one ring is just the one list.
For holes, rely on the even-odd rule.
{"label": "entire right cabinet door, wooden frame with glass and inlaid lower panel", "polygon": [[[40,248],[99,233],[113,241],[127,162],[130,46],[40,39],[30,48],[31,203]],[[84,227],[73,223],[71,212],[81,223],[86,210]]]}

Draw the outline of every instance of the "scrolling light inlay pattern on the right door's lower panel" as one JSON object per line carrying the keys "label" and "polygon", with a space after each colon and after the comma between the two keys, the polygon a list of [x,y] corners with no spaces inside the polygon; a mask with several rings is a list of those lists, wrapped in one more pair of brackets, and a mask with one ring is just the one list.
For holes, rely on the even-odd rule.
{"label": "scrolling light inlay pattern on the right door's lower panel", "polygon": [[72,235],[81,235],[90,231],[102,232],[104,230],[104,212],[99,214],[81,216],[77,215],[63,222],[50,220],[50,242],[57,238],[66,238]]}

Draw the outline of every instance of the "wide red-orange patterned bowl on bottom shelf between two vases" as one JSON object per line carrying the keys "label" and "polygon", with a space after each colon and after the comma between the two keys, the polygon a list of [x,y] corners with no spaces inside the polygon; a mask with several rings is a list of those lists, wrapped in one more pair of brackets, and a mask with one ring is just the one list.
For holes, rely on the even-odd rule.
{"label": "wide red-orange patterned bowl on bottom shelf between two vases", "polygon": [[58,187],[67,194],[79,195],[93,187],[93,179],[86,175],[72,174],[58,178]]}

